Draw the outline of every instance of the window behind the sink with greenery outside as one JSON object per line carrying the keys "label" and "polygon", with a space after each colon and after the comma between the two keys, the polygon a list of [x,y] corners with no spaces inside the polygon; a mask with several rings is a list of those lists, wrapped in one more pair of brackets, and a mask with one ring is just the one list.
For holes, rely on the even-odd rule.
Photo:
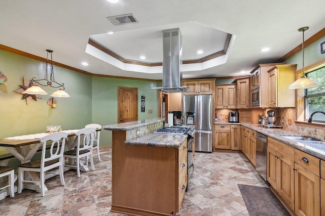
{"label": "window behind the sink with greenery outside", "polygon": [[[325,111],[325,67],[306,74],[308,78],[320,84],[319,87],[305,90],[305,119],[314,111]],[[325,115],[316,113],[313,122],[325,123]]]}

